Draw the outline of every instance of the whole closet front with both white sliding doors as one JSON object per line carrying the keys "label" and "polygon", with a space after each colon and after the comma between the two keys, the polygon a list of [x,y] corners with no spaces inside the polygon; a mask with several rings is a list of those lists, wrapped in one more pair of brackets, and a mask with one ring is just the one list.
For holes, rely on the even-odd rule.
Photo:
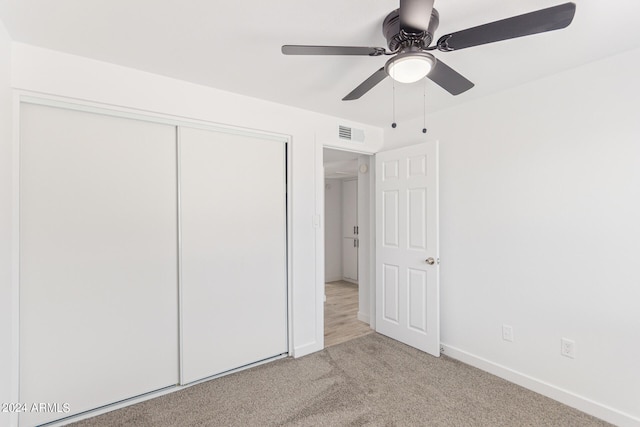
{"label": "whole closet front with both white sliding doors", "polygon": [[59,420],[286,354],[286,140],[20,107],[20,402]]}

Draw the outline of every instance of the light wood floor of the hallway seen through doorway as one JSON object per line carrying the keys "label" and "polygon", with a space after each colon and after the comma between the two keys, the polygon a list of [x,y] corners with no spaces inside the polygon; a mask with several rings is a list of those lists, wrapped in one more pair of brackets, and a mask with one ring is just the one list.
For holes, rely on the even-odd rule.
{"label": "light wood floor of the hallway seen through doorway", "polygon": [[324,346],[340,344],[373,332],[358,320],[358,285],[337,281],[324,287]]}

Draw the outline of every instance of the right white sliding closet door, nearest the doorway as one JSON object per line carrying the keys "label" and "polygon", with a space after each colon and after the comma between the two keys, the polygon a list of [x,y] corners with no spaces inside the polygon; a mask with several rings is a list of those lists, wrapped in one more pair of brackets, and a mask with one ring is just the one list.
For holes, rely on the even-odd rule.
{"label": "right white sliding closet door, nearest the doorway", "polygon": [[183,383],[287,352],[285,144],[180,128]]}

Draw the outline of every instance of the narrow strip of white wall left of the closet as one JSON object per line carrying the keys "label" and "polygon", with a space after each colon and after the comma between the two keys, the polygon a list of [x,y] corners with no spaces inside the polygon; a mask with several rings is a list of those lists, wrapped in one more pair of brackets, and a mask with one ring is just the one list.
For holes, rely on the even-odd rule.
{"label": "narrow strip of white wall left of the closet", "polygon": [[[11,39],[0,21],[0,402],[11,402]],[[9,416],[0,413],[0,425]]]}

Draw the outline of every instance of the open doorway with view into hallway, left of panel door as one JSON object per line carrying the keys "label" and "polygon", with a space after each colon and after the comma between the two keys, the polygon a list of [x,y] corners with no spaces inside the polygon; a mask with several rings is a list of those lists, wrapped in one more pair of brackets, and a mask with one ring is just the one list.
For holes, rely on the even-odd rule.
{"label": "open doorway with view into hallway, left of panel door", "polygon": [[373,332],[368,271],[369,157],[323,149],[325,347]]}

